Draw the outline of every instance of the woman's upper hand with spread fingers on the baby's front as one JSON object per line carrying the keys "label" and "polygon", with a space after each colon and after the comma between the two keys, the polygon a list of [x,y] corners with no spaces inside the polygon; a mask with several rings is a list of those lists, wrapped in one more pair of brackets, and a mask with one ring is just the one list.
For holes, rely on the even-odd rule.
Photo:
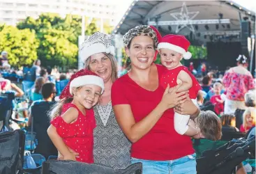
{"label": "woman's upper hand with spread fingers on the baby's front", "polygon": [[177,104],[183,104],[183,102],[186,101],[186,98],[188,97],[188,90],[181,93],[176,93],[179,87],[181,87],[181,84],[178,84],[173,88],[170,88],[169,84],[167,85],[163,98],[160,102],[165,107],[165,110],[173,108]]}

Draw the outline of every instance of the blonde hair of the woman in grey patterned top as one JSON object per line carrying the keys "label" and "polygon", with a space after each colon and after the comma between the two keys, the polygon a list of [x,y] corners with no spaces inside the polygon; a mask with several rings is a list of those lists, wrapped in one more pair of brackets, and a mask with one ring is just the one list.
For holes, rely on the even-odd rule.
{"label": "blonde hair of the woman in grey patterned top", "polygon": [[[114,58],[114,56],[112,54],[107,54],[105,52],[103,52],[103,54],[105,56],[107,56],[108,58],[110,58],[111,61],[111,66],[112,66],[112,72],[111,72],[111,80],[112,83],[114,83],[114,81],[116,81],[117,77],[117,63],[116,63],[116,59]],[[89,58],[86,59],[85,63],[84,63],[84,68],[87,70],[90,70],[90,61],[91,61],[91,56]]]}

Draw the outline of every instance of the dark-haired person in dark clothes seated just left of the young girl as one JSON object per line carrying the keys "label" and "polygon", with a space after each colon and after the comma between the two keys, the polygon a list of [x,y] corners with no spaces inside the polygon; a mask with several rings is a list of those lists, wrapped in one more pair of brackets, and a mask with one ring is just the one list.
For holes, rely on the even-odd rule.
{"label": "dark-haired person in dark clothes seated just left of the young girl", "polygon": [[50,155],[58,155],[57,149],[47,134],[47,129],[50,126],[48,111],[50,111],[51,107],[54,106],[55,102],[52,102],[52,100],[54,99],[55,94],[56,88],[54,84],[43,84],[43,100],[33,102],[33,104],[31,104],[29,114],[29,126],[31,126],[31,122],[33,120],[33,132],[36,132],[36,139],[38,140],[35,153],[43,155],[46,159]]}

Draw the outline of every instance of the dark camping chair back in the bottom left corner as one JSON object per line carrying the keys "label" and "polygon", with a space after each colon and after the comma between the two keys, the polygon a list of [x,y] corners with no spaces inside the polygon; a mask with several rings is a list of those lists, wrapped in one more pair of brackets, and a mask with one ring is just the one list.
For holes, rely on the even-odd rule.
{"label": "dark camping chair back in the bottom left corner", "polygon": [[23,173],[24,143],[23,130],[0,133],[0,174]]}

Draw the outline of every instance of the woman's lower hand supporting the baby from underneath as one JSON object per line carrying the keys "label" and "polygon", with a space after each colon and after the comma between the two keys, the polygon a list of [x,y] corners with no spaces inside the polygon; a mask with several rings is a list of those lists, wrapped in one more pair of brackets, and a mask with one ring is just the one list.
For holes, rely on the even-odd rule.
{"label": "woman's lower hand supporting the baby from underneath", "polygon": [[176,105],[175,111],[182,115],[193,116],[193,118],[197,117],[200,112],[199,108],[192,102],[192,100],[190,100],[189,97],[186,99],[186,102]]}

